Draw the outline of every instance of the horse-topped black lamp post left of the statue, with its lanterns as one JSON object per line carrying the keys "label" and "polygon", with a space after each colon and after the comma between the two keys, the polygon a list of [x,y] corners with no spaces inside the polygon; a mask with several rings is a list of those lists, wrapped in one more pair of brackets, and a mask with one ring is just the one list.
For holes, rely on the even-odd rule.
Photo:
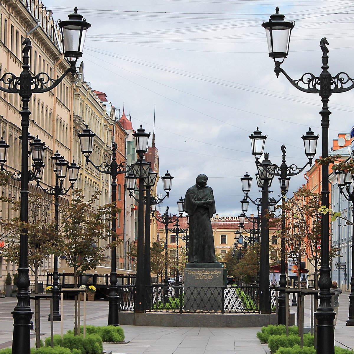
{"label": "horse-topped black lamp post left of the statue, with its lanterns", "polygon": [[[143,129],[142,129],[143,130]],[[144,139],[144,132],[137,133],[136,139]],[[109,326],[119,326],[119,296],[118,296],[118,287],[117,287],[117,272],[116,272],[116,192],[117,192],[117,183],[116,177],[121,173],[127,173],[131,171],[136,165],[129,167],[126,162],[121,162],[120,164],[116,161],[116,150],[117,144],[114,142],[112,144],[112,161],[102,162],[99,166],[96,166],[91,160],[90,155],[93,151],[93,139],[96,136],[94,132],[86,125],[86,128],[82,133],[78,134],[80,139],[81,152],[84,154],[86,164],[91,164],[95,170],[101,172],[105,175],[110,175],[112,178],[112,222],[111,222],[111,232],[112,232],[112,248],[111,248],[111,272],[109,276],[109,295],[108,295],[108,325]],[[147,141],[146,141],[147,145]],[[146,151],[146,150],[145,150]],[[150,166],[149,166],[150,167]]]}

